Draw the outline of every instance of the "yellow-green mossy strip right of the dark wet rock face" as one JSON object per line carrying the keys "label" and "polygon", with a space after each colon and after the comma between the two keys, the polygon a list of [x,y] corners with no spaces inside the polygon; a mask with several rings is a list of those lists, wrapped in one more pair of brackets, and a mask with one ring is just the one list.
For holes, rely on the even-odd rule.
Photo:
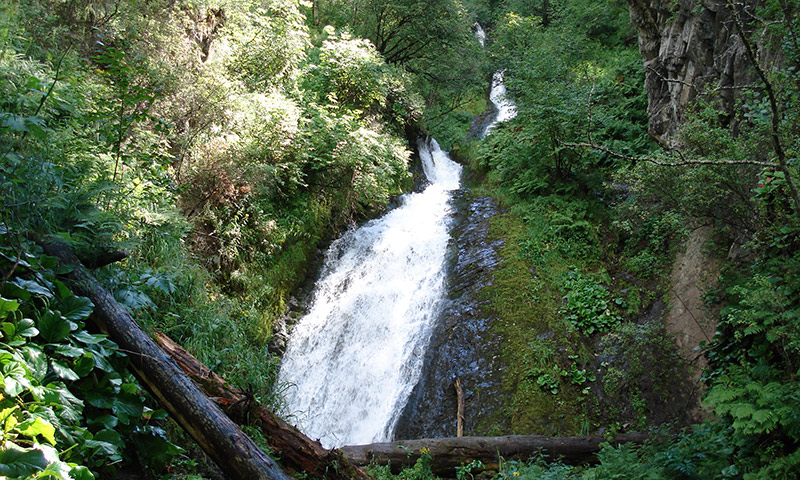
{"label": "yellow-green mossy strip right of the dark wet rock face", "polygon": [[[586,399],[567,380],[570,356],[585,347],[559,315],[560,294],[521,252],[525,224],[513,214],[492,221],[490,235],[504,240],[494,282],[484,290],[498,319],[494,333],[501,339],[506,365],[502,388],[509,396],[504,420],[513,433],[578,434],[586,419]],[[554,265],[555,267],[555,265]],[[556,393],[553,393],[556,392]],[[499,419],[487,419],[478,429],[490,432]]]}

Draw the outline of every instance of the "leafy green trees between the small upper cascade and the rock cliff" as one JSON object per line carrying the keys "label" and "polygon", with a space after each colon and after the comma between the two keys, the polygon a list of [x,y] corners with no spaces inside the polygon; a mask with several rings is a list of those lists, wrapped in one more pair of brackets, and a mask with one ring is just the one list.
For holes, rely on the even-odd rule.
{"label": "leafy green trees between the small upper cascade and the rock cliff", "polygon": [[[578,20],[590,10],[618,8],[562,3],[569,4],[564,7],[569,15],[554,16],[546,26],[531,10],[506,10],[494,33],[491,54],[505,69],[518,115],[487,139],[479,165],[492,169],[500,185],[517,197],[600,189],[615,161],[565,142],[592,140],[623,152],[649,148],[635,48],[592,35],[587,31],[592,23]],[[608,32],[628,28],[603,20],[600,16],[597,22]]]}

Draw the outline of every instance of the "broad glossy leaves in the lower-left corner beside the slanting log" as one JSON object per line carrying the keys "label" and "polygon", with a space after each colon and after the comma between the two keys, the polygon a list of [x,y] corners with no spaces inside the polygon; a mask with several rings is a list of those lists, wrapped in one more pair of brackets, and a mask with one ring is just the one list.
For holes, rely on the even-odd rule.
{"label": "broad glossy leaves in the lower-left corner beside the slanting log", "polygon": [[25,252],[3,248],[2,474],[94,478],[131,454],[160,471],[182,451],[160,426],[166,414],[145,406],[127,355],[86,330],[94,305],[55,277],[56,259]]}

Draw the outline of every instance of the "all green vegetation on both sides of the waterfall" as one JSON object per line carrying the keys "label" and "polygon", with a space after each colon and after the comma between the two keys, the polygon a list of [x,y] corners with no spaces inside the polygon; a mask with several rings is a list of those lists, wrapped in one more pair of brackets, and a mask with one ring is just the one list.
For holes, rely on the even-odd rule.
{"label": "all green vegetation on both sides of the waterfall", "polygon": [[[508,408],[478,433],[683,422],[604,449],[596,467],[542,458],[498,478],[791,478],[799,8],[770,0],[746,25],[773,63],[741,92],[736,128],[710,89],[681,130],[681,159],[770,166],[660,167],[618,0],[3,2],[0,476],[213,475],[43,240],[87,264],[129,251],[94,271],[117,300],[275,405],[277,319],[325,241],[410,188],[409,145],[425,131],[507,211],[485,294]],[[495,70],[518,115],[466,140]],[[704,224],[710,255],[740,253],[707,294],[713,415],[681,430],[690,389],[661,314],[675,251]],[[432,475],[423,456],[400,477]]]}

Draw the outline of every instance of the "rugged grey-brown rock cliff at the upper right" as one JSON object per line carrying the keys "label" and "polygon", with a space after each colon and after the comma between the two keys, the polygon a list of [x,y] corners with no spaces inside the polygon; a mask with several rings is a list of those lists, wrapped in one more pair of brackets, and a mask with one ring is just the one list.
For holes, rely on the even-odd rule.
{"label": "rugged grey-brown rock cliff at the upper right", "polygon": [[[746,1],[754,4],[753,1]],[[628,0],[646,73],[650,134],[663,146],[677,136],[698,94],[719,87],[723,121],[733,122],[735,88],[751,83],[744,44],[725,0]]]}

